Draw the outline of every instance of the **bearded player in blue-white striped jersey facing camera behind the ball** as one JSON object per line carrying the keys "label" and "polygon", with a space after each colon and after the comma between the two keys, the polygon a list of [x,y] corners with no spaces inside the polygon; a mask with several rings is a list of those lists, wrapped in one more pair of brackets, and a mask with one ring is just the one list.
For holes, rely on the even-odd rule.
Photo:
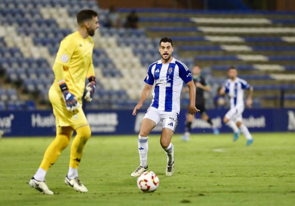
{"label": "bearded player in blue-white striped jersey facing camera behind the ball", "polygon": [[151,130],[162,122],[162,134],[160,144],[167,155],[166,176],[174,173],[174,147],[171,143],[175,132],[180,111],[180,92],[183,82],[189,87],[190,105],[189,113],[199,112],[195,107],[196,87],[192,79],[191,71],[185,64],[172,57],[173,42],[170,38],[160,40],[159,52],[162,57],[148,67],[148,75],[145,78],[145,88],[141,98],[133,110],[133,115],[143,102],[148,98],[153,84],[153,100],[143,117],[140,133],[138,135],[138,151],[140,166],[131,173],[132,177],[138,177],[148,170],[148,135]]}

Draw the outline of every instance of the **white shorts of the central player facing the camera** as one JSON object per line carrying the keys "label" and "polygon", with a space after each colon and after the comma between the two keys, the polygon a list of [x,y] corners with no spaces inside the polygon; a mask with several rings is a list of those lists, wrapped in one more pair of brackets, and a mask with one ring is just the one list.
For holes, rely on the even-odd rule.
{"label": "white shorts of the central player facing the camera", "polygon": [[178,123],[178,116],[179,115],[176,112],[165,112],[158,110],[155,107],[149,107],[143,119],[151,119],[156,125],[162,121],[162,128],[169,128],[174,133]]}

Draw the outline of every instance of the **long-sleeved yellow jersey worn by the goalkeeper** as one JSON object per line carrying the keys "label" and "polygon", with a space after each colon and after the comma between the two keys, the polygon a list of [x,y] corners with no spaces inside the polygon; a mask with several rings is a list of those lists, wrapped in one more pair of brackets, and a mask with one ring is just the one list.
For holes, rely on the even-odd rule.
{"label": "long-sleeved yellow jersey worn by the goalkeeper", "polygon": [[[61,42],[53,65],[53,71],[63,65],[63,75],[69,91],[81,101],[85,89],[85,79],[94,75],[92,52],[94,43],[91,36],[84,39],[76,31],[66,36]],[[56,72],[55,72],[56,73]],[[52,87],[61,90],[55,76]]]}

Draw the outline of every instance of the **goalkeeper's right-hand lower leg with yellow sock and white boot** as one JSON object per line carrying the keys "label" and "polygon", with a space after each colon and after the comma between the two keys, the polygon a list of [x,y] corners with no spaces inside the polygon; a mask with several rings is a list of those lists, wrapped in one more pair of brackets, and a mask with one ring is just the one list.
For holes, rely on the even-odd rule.
{"label": "goalkeeper's right-hand lower leg with yellow sock and white boot", "polygon": [[89,125],[76,129],[76,136],[71,145],[70,165],[68,175],[65,177],[65,184],[73,187],[78,192],[88,192],[78,177],[78,166],[81,161],[85,144],[91,136]]}

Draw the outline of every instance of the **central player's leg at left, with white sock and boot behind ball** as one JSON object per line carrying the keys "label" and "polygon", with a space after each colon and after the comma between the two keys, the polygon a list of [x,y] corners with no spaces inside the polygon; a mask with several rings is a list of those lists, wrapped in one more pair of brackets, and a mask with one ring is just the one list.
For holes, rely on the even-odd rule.
{"label": "central player's leg at left, with white sock and boot behind ball", "polygon": [[131,173],[132,177],[138,177],[142,172],[148,170],[148,135],[154,129],[156,123],[148,118],[144,118],[141,123],[138,135],[138,152],[140,158],[140,166]]}

